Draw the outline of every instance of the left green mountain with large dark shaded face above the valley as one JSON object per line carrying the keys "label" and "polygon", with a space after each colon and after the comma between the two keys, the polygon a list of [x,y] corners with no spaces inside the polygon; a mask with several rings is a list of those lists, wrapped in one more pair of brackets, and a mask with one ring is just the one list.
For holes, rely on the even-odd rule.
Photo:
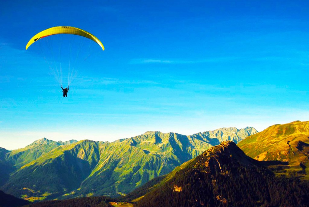
{"label": "left green mountain with large dark shaded face above the valley", "polygon": [[98,161],[98,143],[94,141],[61,145],[11,174],[2,189],[34,200],[57,196],[78,188]]}

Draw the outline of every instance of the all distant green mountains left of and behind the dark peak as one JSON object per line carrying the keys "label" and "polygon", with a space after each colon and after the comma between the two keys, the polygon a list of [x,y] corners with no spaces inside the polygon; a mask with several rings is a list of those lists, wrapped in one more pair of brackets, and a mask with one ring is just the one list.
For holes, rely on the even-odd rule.
{"label": "all distant green mountains left of and behind the dark peak", "polygon": [[31,200],[123,195],[221,141],[238,143],[254,133],[252,127],[190,136],[148,131],[112,143],[43,138],[5,154],[15,170],[1,189]]}

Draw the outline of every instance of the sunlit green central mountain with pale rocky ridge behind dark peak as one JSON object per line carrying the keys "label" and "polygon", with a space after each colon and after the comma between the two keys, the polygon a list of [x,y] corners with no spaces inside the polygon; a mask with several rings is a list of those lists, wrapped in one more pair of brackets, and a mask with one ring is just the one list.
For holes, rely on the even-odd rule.
{"label": "sunlit green central mountain with pale rocky ridge behind dark peak", "polygon": [[[76,195],[117,196],[171,172],[222,140],[242,140],[256,133],[252,127],[222,128],[192,136],[148,131],[101,146],[100,161]],[[113,152],[112,154],[110,152]]]}

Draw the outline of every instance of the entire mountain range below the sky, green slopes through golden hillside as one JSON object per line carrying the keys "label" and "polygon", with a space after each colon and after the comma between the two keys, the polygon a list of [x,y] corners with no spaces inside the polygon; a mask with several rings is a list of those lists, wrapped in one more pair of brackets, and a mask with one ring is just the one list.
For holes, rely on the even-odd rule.
{"label": "entire mountain range below the sky, green slopes through golden hillside", "polygon": [[[0,165],[7,169],[1,172],[1,188],[30,201],[91,198],[35,203],[38,207],[116,204],[116,200],[108,204],[112,200],[93,197],[99,194],[126,194],[117,201],[131,201],[136,207],[305,207],[309,203],[308,132],[309,122],[295,121],[262,132],[251,127],[191,136],[146,132],[112,143],[40,139],[16,151],[0,148]],[[169,167],[173,169],[168,172]]]}

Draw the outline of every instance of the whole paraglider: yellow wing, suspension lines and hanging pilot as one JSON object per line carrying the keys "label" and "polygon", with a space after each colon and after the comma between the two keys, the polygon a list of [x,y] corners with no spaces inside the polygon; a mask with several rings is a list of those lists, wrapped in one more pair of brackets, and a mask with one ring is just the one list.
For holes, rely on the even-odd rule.
{"label": "whole paraglider: yellow wing, suspension lines and hanging pilot", "polygon": [[[38,41],[39,39],[43,39],[43,38],[45,38],[45,37],[48,37],[48,36],[51,36],[51,35],[59,35],[59,34],[69,34],[69,35],[72,35],[72,36],[75,36],[75,35],[78,35],[78,36],[82,36],[82,37],[85,37],[85,38],[87,38],[87,39],[90,39],[90,40],[92,40],[93,42],[95,42],[95,43],[97,43],[101,48],[102,48],[102,50],[104,50],[104,46],[103,46],[103,44],[102,44],[102,42],[96,37],[96,36],[94,36],[94,35],[92,35],[91,33],[89,33],[89,32],[87,32],[87,31],[85,31],[85,30],[82,30],[82,29],[79,29],[79,28],[77,28],[77,27],[70,27],[70,26],[57,26],[57,27],[51,27],[51,28],[49,28],[49,29],[46,29],[46,30],[43,30],[43,31],[41,31],[41,32],[39,32],[39,33],[37,33],[36,35],[34,35],[29,41],[28,41],[28,43],[27,43],[27,45],[26,45],[26,50],[28,50],[28,48],[33,44],[33,43],[35,43],[36,41]],[[66,36],[66,35],[64,35],[64,36]],[[57,79],[57,81],[61,84],[61,89],[62,89],[62,92],[63,92],[63,97],[67,97],[67,93],[68,93],[68,91],[69,91],[69,84],[71,83],[71,81],[73,80],[73,78],[75,77],[75,75],[76,75],[76,70],[74,71],[74,66],[75,66],[75,64],[76,64],[76,60],[78,59],[77,58],[77,56],[78,56],[78,54],[80,53],[80,52],[83,52],[83,48],[81,47],[82,46],[82,43],[81,42],[83,42],[82,40],[83,40],[83,38],[81,38],[82,40],[78,40],[77,41],[77,43],[79,43],[80,45],[79,46],[75,46],[74,44],[73,44],[73,47],[75,46],[75,47],[78,47],[77,49],[76,49],[76,51],[77,51],[77,55],[76,55],[76,58],[75,58],[75,62],[74,61],[71,61],[70,59],[71,58],[74,58],[74,57],[71,57],[71,52],[72,52],[72,43],[71,43],[71,45],[69,45],[69,46],[66,46],[66,45],[63,45],[63,47],[64,47],[64,49],[67,49],[67,48],[69,48],[70,49],[70,51],[68,51],[68,52],[66,52],[66,53],[63,53],[63,55],[62,54],[60,54],[60,51],[62,51],[61,50],[61,48],[60,48],[60,46],[61,46],[61,44],[62,44],[62,39],[63,39],[63,36],[61,36],[60,35],[60,40],[59,40],[59,44],[53,44],[53,43],[49,43],[48,42],[48,39],[49,38],[46,38],[47,40],[46,40],[46,42],[48,43],[48,49],[51,51],[50,52],[50,54],[51,55],[49,55],[49,56],[47,56],[47,58],[45,58],[45,61],[46,62],[48,62],[50,65],[49,65],[49,68],[52,70],[52,72],[53,72],[53,74],[54,74],[54,76],[55,76],[55,78]],[[51,38],[51,39],[53,39],[53,38]],[[72,40],[72,38],[70,37],[69,38],[69,41],[65,41],[64,40],[64,42],[66,43],[66,42],[70,42]],[[92,42],[92,41],[90,41],[90,42]],[[43,41],[44,42],[44,41]],[[40,45],[40,44],[39,44]],[[41,45],[40,45],[41,46]],[[42,47],[42,46],[41,46]],[[58,49],[58,51],[56,51],[56,52],[59,52],[59,56],[56,56],[56,52],[53,52],[53,49],[57,49],[57,47],[59,47],[59,49]],[[68,49],[67,49],[68,50]],[[48,51],[49,52],[49,51]],[[44,53],[44,52],[42,52],[42,53]],[[45,55],[45,54],[44,54]],[[67,71],[68,71],[68,88],[62,88],[62,68],[63,68],[63,64],[61,64],[61,63],[63,63],[63,61],[66,61],[66,60],[55,60],[55,57],[57,58],[62,58],[62,59],[65,59],[66,58],[66,56],[68,56],[68,58],[67,59],[69,59],[69,60],[67,60],[67,62],[68,62],[68,67],[66,67],[67,68]],[[73,56],[73,55],[72,55]],[[51,64],[51,60],[53,60],[53,62],[54,62],[54,65],[52,65]],[[84,59],[85,60],[85,59]],[[50,61],[50,62],[49,62]],[[74,64],[72,64],[72,62],[74,62]],[[59,64],[58,66],[56,65],[56,64]],[[75,74],[73,73],[73,71],[75,72]]]}

